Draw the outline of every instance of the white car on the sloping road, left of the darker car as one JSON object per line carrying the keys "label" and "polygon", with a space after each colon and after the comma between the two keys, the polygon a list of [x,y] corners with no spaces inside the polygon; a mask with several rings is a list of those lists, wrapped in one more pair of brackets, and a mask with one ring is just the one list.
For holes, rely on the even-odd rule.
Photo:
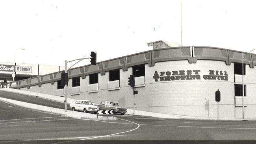
{"label": "white car on the sloping road, left of the darker car", "polygon": [[89,100],[77,100],[75,103],[70,103],[73,111],[94,112],[95,114],[100,110],[99,107],[93,105]]}

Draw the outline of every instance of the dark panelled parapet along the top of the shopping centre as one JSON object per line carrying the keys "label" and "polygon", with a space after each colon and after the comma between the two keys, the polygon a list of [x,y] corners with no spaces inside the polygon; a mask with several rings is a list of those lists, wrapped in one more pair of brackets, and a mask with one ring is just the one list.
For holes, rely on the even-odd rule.
{"label": "dark panelled parapet along the top of the shopping centre", "polygon": [[[100,73],[105,75],[107,71],[120,69],[128,70],[128,67],[135,65],[148,64],[154,66],[155,63],[161,61],[177,61],[187,60],[189,63],[197,63],[197,60],[216,60],[224,61],[226,65],[231,63],[242,63],[242,53],[235,50],[228,50],[224,48],[208,47],[208,46],[179,46],[149,50],[137,54],[126,55],[102,62],[96,65],[85,65],[69,70],[69,78],[82,77],[83,79],[90,74]],[[248,64],[250,68],[256,65],[256,54],[248,54],[244,63]],[[38,85],[41,87],[44,83],[54,84],[55,81],[61,80],[61,72],[54,72],[43,76],[37,76],[21,81],[14,81],[10,83],[10,88],[20,89]]]}

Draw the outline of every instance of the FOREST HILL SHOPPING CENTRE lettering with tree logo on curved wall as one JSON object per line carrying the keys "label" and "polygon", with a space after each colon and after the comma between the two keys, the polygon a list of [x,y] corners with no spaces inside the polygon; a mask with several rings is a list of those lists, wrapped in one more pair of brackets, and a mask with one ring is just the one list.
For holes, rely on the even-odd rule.
{"label": "FOREST HILL SHOPPING CENTRE lettering with tree logo on curved wall", "polygon": [[[179,81],[179,80],[200,80],[200,70],[178,70],[178,71],[155,71],[153,76],[155,81]],[[221,70],[209,70],[209,75],[203,75],[206,80],[222,80],[228,81],[228,73]],[[158,80],[159,79],[159,80]]]}

